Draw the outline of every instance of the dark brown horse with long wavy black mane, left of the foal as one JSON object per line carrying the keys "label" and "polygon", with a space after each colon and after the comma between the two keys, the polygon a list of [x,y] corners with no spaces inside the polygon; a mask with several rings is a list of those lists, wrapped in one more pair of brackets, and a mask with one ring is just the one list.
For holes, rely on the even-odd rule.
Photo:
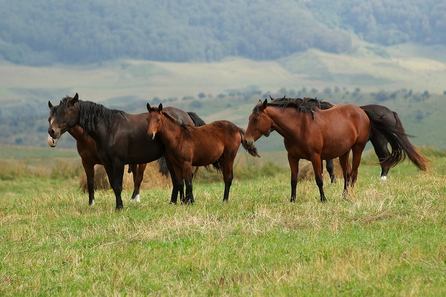
{"label": "dark brown horse with long wavy black mane, left of the foal", "polygon": [[[186,113],[174,107],[166,107],[170,115],[181,122],[193,117],[197,123],[204,123],[195,113]],[[66,96],[61,101],[48,134],[53,140],[70,128],[79,125],[95,141],[96,152],[107,173],[108,181],[116,197],[116,210],[123,208],[121,192],[125,164],[145,164],[160,159],[165,146],[160,140],[146,137],[146,112],[128,114],[124,111],[109,109],[91,101]],[[175,176],[172,175],[174,179]],[[174,187],[172,194],[178,189]]]}

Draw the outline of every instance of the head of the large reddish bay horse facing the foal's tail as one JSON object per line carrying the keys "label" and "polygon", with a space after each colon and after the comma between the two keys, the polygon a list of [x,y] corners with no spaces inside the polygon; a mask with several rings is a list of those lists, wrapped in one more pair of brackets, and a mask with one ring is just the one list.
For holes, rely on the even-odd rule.
{"label": "head of the large reddish bay horse facing the foal's tail", "polygon": [[259,100],[259,103],[254,107],[252,114],[249,116],[248,128],[243,137],[243,142],[248,147],[254,145],[254,141],[271,129],[271,120],[265,113],[267,106],[268,99],[265,99],[263,103]]}

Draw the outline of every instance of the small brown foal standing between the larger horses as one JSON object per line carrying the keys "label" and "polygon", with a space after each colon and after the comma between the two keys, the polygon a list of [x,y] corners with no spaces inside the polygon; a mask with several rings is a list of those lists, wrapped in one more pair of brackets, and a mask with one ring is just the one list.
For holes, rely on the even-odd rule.
{"label": "small brown foal standing between the larger horses", "polygon": [[[229,198],[234,173],[235,156],[242,143],[244,129],[235,124],[219,120],[201,127],[190,123],[181,124],[169,113],[165,112],[162,103],[152,107],[147,103],[147,138],[154,141],[160,139],[165,145],[164,157],[177,176],[178,188],[183,188],[183,178],[186,184],[186,196],[182,203],[194,203],[192,192],[192,166],[213,165],[223,174],[225,184],[223,202]],[[155,137],[157,136],[157,137]],[[260,157],[255,146],[244,148],[252,156]],[[174,201],[175,203],[176,201]]]}

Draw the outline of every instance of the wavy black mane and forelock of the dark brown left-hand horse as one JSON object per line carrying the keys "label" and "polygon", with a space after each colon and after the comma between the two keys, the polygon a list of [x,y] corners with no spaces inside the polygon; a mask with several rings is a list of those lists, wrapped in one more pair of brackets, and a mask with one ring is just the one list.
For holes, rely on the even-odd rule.
{"label": "wavy black mane and forelock of the dark brown left-hand horse", "polygon": [[[72,99],[66,96],[61,101],[63,110],[68,109],[68,100]],[[127,113],[122,110],[109,109],[102,104],[78,100],[79,108],[79,126],[81,126],[85,132],[97,132],[100,124],[105,124],[108,129],[111,123],[116,119],[116,115],[122,115],[127,117]]]}

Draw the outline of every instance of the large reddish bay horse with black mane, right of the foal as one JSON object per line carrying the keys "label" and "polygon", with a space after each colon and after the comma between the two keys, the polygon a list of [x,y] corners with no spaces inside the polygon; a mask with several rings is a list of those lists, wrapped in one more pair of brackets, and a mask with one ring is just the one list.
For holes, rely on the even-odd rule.
{"label": "large reddish bay horse with black mane, right of the foal", "polygon": [[[333,125],[332,123],[336,123]],[[269,129],[273,128],[284,137],[285,148],[291,169],[291,202],[296,201],[297,173],[299,160],[311,161],[321,202],[326,201],[323,190],[321,159],[339,157],[343,169],[345,198],[353,189],[358,175],[358,167],[365,144],[369,139],[370,127],[384,135],[392,147],[389,157],[380,165],[395,166],[405,154],[418,156],[420,169],[427,170],[427,160],[407,141],[407,136],[398,128],[388,125],[386,120],[371,110],[363,110],[353,104],[339,104],[326,110],[316,105],[304,106],[297,101],[268,100],[254,107],[249,116],[249,124],[244,136],[244,144],[249,147]],[[330,127],[330,129],[327,129]],[[350,165],[349,155],[353,161]]]}

